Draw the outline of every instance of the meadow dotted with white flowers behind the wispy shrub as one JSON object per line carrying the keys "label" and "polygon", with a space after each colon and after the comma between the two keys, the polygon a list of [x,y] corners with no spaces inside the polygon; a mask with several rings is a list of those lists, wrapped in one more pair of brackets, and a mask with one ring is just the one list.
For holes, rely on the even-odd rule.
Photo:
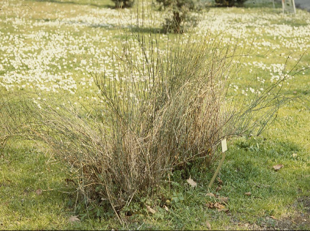
{"label": "meadow dotted with white flowers behind the wispy shrub", "polygon": [[[110,73],[111,80],[118,81],[112,74],[110,55],[119,45],[117,28],[136,23],[131,9],[120,12],[83,5],[82,10],[79,4],[63,8],[64,4],[52,1],[29,4],[2,2],[1,86],[7,90],[35,87],[46,92],[63,89],[76,95],[78,102],[95,97],[91,73],[97,69],[104,68],[107,75]],[[165,13],[155,12],[156,27],[163,23],[162,14]],[[310,47],[310,18],[306,11],[293,16],[281,15],[271,9],[266,12],[259,8],[246,11],[212,8],[201,17],[203,20],[198,27],[210,29],[214,34],[224,32],[231,35],[227,41],[232,45],[255,35],[256,57],[242,63],[242,77],[232,83],[236,92],[254,93],[252,88],[243,89],[242,83],[256,74],[262,88],[265,81],[279,79],[286,59],[291,55],[292,61],[296,62]],[[142,52],[137,56],[142,60]],[[308,68],[307,61],[302,60],[300,68]]]}

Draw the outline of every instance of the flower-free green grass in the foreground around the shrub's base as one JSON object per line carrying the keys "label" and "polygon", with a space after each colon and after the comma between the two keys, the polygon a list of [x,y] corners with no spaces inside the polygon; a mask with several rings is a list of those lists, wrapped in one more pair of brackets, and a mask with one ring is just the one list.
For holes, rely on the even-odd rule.
{"label": "flower-free green grass in the foreground around the shrub's base", "polygon": [[[300,114],[304,114],[300,112]],[[303,206],[291,205],[303,196],[310,196],[310,166],[308,143],[310,123],[304,123],[303,129],[294,129],[288,124],[288,139],[277,126],[264,141],[263,138],[240,138],[228,146],[227,158],[220,171],[223,187],[220,196],[229,197],[227,208],[230,214],[208,209],[206,193],[214,192],[217,184],[211,189],[207,185],[211,175],[197,169],[171,177],[171,181],[180,186],[163,183],[160,194],[171,199],[173,192],[182,193],[184,201],[171,207],[168,212],[157,212],[147,215],[142,211],[139,216],[129,217],[128,228],[136,229],[206,229],[206,220],[213,229],[239,229],[237,224],[261,224],[265,217],[294,214],[304,211]],[[294,138],[297,130],[298,139]],[[273,138],[269,138],[273,137]],[[308,140],[307,140],[308,139]],[[300,142],[300,140],[304,140]],[[258,150],[255,150],[259,146]],[[292,154],[296,153],[296,156]],[[68,206],[73,195],[61,191],[66,189],[66,174],[60,164],[47,164],[48,156],[33,150],[31,145],[10,148],[1,158],[1,204],[2,229],[121,229],[115,218],[85,219],[80,224],[68,224],[73,214],[73,207]],[[272,166],[281,163],[280,171],[275,172]],[[192,189],[186,183],[191,175],[198,183]],[[43,189],[37,195],[36,190]],[[49,190],[55,189],[55,190]],[[72,190],[71,190],[72,191]],[[251,192],[251,196],[244,195]],[[152,202],[151,202],[152,203]],[[158,208],[157,208],[158,209]],[[269,224],[272,227],[272,222]],[[124,229],[126,228],[123,227]],[[309,226],[299,226],[308,229]]]}

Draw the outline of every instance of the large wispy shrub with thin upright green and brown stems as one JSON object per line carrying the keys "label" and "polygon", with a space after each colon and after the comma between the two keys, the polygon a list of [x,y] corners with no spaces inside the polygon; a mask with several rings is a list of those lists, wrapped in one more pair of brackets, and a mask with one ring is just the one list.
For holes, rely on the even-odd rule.
{"label": "large wispy shrub with thin upright green and brown stems", "polygon": [[303,103],[281,92],[285,72],[252,98],[228,97],[229,82],[255,49],[246,42],[232,45],[210,30],[160,39],[144,26],[120,31],[114,80],[104,68],[93,73],[98,102],[75,105],[63,92],[44,100],[39,90],[0,92],[2,147],[15,140],[43,144],[74,173],[78,198],[105,203],[117,216],[138,193],[156,191],[174,168],[214,163],[222,138],[258,135],[286,102]]}

